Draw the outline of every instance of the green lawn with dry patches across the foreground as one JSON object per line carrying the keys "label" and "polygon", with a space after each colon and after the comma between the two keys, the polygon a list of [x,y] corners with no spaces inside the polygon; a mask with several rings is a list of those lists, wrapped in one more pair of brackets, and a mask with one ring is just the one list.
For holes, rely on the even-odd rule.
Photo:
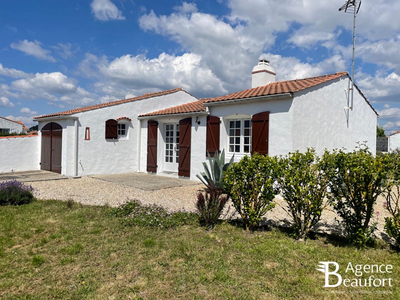
{"label": "green lawn with dry patches across the foreground", "polygon": [[400,297],[399,254],[389,249],[356,250],[322,237],[299,242],[278,230],[251,234],[228,223],[210,231],[124,226],[109,207],[52,200],[0,207],[2,299],[353,298],[323,293],[332,288],[322,287],[318,261],[392,264],[391,295],[357,298]]}

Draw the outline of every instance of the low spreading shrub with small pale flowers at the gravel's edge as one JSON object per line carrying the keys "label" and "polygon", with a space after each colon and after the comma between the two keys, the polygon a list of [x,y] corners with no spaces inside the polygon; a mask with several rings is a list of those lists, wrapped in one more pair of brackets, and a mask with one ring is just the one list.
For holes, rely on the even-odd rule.
{"label": "low spreading shrub with small pale flowers at the gravel's edge", "polygon": [[142,205],[137,200],[128,201],[112,210],[115,216],[123,217],[126,225],[141,227],[169,228],[193,223],[198,216],[194,212],[182,210],[168,211],[156,204]]}

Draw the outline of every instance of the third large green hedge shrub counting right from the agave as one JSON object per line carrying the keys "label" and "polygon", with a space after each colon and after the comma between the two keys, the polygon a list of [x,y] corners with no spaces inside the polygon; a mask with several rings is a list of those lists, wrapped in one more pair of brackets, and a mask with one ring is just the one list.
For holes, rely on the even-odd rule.
{"label": "third large green hedge shrub counting right from the agave", "polygon": [[350,242],[361,246],[376,229],[376,223],[370,223],[373,206],[387,186],[392,163],[387,155],[373,157],[362,145],[347,153],[325,151],[322,160],[330,177],[328,197]]}

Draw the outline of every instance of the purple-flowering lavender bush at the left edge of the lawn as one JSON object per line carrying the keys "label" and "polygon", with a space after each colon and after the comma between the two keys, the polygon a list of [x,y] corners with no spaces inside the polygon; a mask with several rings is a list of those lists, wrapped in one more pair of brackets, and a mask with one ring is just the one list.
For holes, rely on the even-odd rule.
{"label": "purple-flowering lavender bush at the left edge of the lawn", "polygon": [[17,180],[0,183],[0,205],[21,205],[30,203],[35,189]]}

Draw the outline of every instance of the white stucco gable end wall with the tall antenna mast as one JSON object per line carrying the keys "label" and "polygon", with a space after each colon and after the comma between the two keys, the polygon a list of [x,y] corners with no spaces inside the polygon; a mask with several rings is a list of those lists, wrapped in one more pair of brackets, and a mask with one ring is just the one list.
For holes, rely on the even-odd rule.
{"label": "white stucco gable end wall with the tall antenna mast", "polygon": [[357,142],[367,141],[370,151],[376,152],[376,114],[357,89],[353,110],[344,109],[347,87],[348,77],[341,77],[294,93],[293,151],[352,150]]}

